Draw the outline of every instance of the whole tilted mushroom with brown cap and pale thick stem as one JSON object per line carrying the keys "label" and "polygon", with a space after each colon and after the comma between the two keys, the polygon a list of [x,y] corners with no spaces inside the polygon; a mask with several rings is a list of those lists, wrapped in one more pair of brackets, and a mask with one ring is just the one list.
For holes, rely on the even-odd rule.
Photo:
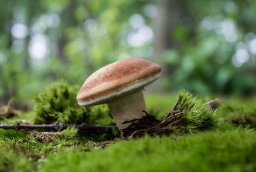
{"label": "whole tilted mushroom with brown cap and pale thick stem", "polygon": [[127,58],[104,66],[84,82],[77,94],[80,106],[107,103],[119,130],[146,114],[142,90],[161,75],[161,67],[142,58]]}

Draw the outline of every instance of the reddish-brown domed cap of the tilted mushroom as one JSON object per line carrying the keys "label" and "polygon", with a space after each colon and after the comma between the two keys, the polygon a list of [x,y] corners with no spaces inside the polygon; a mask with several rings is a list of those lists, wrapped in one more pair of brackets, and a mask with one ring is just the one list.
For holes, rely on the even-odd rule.
{"label": "reddish-brown domed cap of the tilted mushroom", "polygon": [[155,81],[161,67],[142,58],[127,58],[104,66],[84,82],[77,94],[80,106],[106,103]]}

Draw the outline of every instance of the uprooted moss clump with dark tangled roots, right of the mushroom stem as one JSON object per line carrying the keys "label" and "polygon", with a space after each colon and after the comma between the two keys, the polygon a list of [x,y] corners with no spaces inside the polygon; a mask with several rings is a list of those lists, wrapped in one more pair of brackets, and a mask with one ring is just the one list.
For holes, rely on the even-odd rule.
{"label": "uprooted moss clump with dark tangled roots, right of the mushroom stem", "polygon": [[125,121],[131,123],[122,130],[124,137],[139,137],[143,134],[186,134],[217,127],[218,115],[215,110],[205,105],[202,99],[188,91],[178,93],[177,103],[162,121],[154,116]]}

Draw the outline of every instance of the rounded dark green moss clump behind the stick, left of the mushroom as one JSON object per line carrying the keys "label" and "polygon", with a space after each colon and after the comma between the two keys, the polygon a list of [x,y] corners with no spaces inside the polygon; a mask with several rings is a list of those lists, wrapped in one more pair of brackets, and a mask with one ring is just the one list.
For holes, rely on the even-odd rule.
{"label": "rounded dark green moss clump behind the stick, left of the mushroom", "polygon": [[51,84],[35,98],[34,123],[88,123],[113,125],[115,122],[106,105],[81,107],[77,104],[78,86],[64,81]]}

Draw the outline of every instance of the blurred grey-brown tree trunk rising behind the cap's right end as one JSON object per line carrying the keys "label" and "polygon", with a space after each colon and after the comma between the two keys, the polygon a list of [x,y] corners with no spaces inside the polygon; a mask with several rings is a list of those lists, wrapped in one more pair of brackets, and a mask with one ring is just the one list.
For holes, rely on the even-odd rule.
{"label": "blurred grey-brown tree trunk rising behind the cap's right end", "polygon": [[[181,9],[177,0],[157,1],[157,16],[154,19],[154,54],[152,61],[161,65],[162,76],[159,81],[163,81],[167,75],[167,68],[163,63],[164,52],[170,48],[177,47],[177,42],[172,39],[171,33],[181,17]],[[159,90],[160,84],[153,84],[153,91]]]}

